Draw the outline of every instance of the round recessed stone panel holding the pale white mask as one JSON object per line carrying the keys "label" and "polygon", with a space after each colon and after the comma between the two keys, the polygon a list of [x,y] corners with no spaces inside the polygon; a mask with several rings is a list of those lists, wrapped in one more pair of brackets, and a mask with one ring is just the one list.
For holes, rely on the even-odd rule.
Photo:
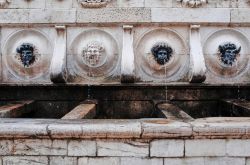
{"label": "round recessed stone panel holding the pale white mask", "polygon": [[[113,75],[119,60],[119,47],[112,34],[99,29],[79,32],[69,43],[71,76],[103,81]],[[86,80],[86,82],[87,82]]]}

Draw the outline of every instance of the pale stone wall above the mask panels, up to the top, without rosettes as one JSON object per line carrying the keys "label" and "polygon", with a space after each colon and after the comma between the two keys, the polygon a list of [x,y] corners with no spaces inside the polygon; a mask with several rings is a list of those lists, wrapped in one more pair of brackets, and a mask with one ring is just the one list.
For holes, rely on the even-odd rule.
{"label": "pale stone wall above the mask panels, up to the top, without rosettes", "polygon": [[12,0],[1,9],[0,23],[247,23],[248,8],[248,0],[208,0],[195,10],[179,0],[112,0],[101,9],[77,0]]}

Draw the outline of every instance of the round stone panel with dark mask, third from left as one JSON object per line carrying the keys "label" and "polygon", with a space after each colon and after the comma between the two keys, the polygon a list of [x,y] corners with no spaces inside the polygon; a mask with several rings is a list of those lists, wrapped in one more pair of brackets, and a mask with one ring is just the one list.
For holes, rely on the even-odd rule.
{"label": "round stone panel with dark mask, third from left", "polygon": [[147,31],[136,44],[135,53],[137,72],[142,81],[178,81],[187,73],[187,46],[173,30]]}

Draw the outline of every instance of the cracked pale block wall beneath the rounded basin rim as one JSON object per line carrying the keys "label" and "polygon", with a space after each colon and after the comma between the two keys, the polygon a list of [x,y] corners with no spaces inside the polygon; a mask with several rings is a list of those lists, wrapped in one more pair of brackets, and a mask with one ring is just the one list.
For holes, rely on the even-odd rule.
{"label": "cracked pale block wall beneath the rounded basin rim", "polygon": [[3,165],[248,165],[249,147],[249,140],[221,139],[6,140],[1,159]]}

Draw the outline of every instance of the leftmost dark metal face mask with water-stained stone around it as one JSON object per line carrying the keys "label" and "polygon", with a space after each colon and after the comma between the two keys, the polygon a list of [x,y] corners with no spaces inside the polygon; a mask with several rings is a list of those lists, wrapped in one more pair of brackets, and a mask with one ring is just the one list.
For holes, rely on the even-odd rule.
{"label": "leftmost dark metal face mask with water-stained stone around it", "polygon": [[29,67],[36,60],[34,55],[34,46],[32,44],[23,43],[16,49],[16,52],[18,53],[24,67]]}

